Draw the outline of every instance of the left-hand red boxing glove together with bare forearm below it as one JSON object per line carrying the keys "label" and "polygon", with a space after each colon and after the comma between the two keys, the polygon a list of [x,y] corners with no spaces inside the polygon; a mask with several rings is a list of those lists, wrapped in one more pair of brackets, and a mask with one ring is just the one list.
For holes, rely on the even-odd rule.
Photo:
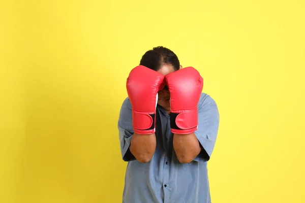
{"label": "left-hand red boxing glove together with bare forearm below it", "polygon": [[130,99],[130,121],[134,133],[128,155],[148,162],[156,150],[156,106],[158,91],[164,87],[164,75],[138,65],[129,74],[127,92]]}

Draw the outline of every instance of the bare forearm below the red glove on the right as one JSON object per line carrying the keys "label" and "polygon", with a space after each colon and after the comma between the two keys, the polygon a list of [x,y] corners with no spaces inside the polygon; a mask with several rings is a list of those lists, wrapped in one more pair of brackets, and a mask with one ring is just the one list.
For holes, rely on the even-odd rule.
{"label": "bare forearm below the red glove on the right", "polygon": [[195,133],[174,134],[173,147],[180,163],[191,162],[201,151]]}

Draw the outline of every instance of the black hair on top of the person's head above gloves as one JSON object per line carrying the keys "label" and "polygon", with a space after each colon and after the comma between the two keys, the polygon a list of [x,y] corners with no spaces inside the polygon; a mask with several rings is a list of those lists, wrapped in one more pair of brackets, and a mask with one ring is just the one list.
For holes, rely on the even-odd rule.
{"label": "black hair on top of the person's head above gloves", "polygon": [[146,51],[140,61],[140,65],[144,65],[154,71],[158,71],[164,64],[172,65],[175,71],[180,69],[177,55],[170,49],[162,46]]}

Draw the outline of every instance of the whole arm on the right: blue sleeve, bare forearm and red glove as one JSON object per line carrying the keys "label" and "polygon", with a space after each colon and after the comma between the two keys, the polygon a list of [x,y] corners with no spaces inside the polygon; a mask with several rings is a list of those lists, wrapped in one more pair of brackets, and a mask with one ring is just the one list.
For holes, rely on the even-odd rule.
{"label": "whole arm on the right: blue sleeve, bare forearm and red glove", "polygon": [[170,126],[173,147],[181,163],[209,160],[219,114],[215,101],[202,93],[203,78],[193,67],[165,76],[171,94]]}

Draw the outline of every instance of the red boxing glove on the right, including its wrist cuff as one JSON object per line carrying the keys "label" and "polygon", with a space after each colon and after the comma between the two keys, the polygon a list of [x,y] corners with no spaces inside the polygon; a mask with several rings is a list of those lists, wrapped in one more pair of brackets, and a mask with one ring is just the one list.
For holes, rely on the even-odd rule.
{"label": "red boxing glove on the right, including its wrist cuff", "polygon": [[198,102],[203,78],[194,67],[165,76],[170,91],[170,127],[173,133],[189,134],[198,128]]}

